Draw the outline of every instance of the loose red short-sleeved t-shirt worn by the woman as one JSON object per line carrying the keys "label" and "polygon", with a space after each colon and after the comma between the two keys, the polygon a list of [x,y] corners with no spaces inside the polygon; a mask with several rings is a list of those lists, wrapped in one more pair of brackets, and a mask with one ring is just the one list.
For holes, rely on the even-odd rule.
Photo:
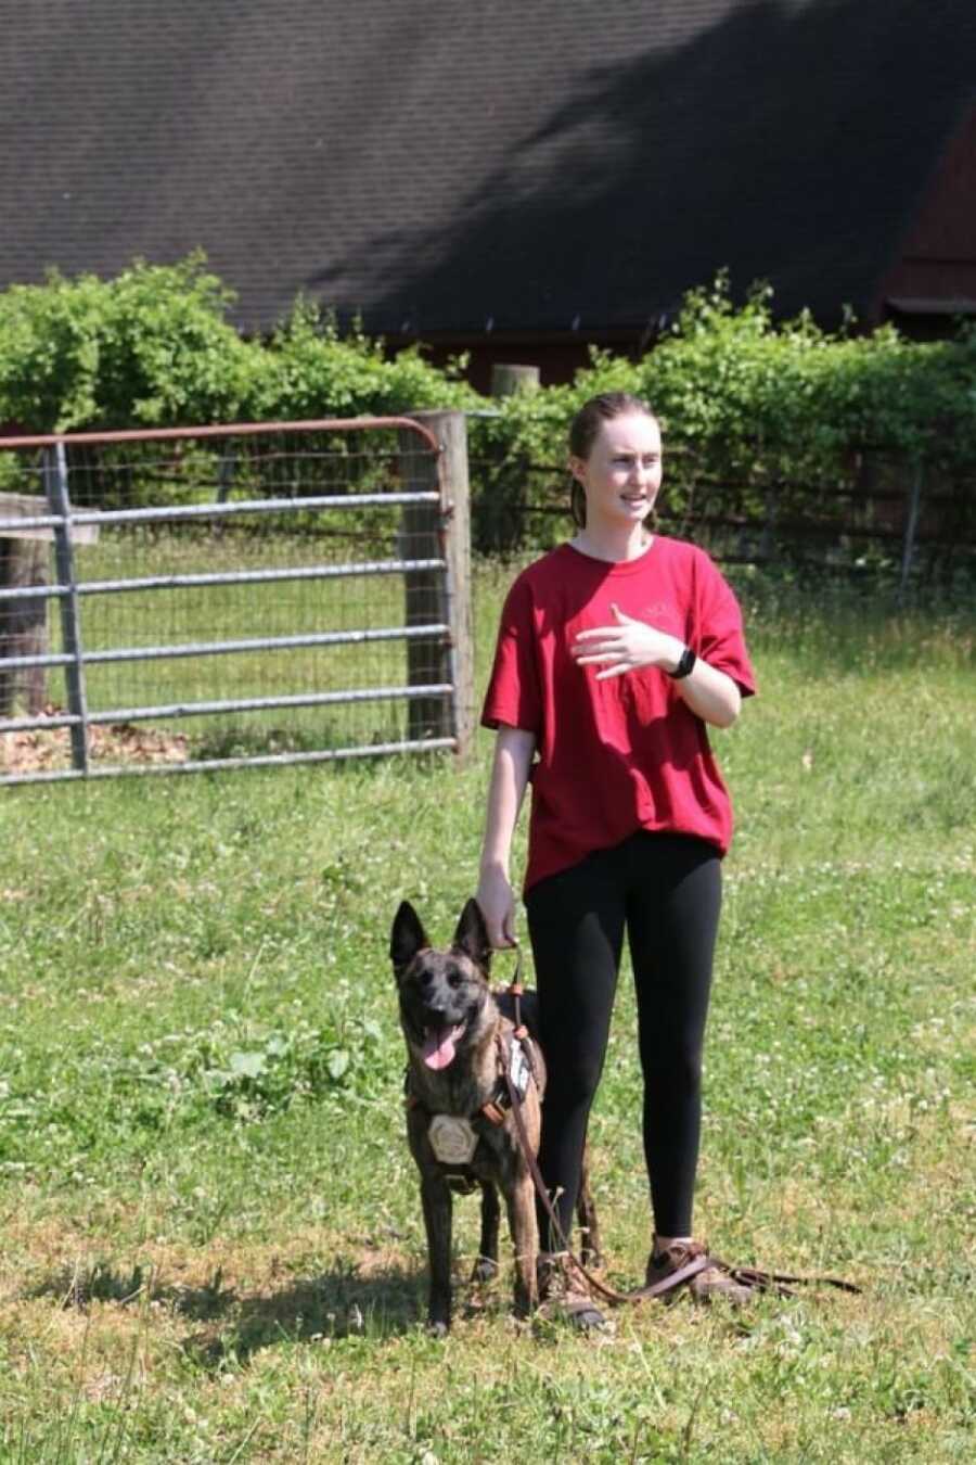
{"label": "loose red short-sleeved t-shirt worn by the woman", "polygon": [[600,667],[569,653],[578,631],[613,624],[612,604],[755,691],[736,598],[695,545],[656,535],[619,564],[560,545],[524,570],[502,611],[481,724],[536,734],[525,889],[637,829],[729,848],[729,794],[675,681],[657,667],[597,681]]}

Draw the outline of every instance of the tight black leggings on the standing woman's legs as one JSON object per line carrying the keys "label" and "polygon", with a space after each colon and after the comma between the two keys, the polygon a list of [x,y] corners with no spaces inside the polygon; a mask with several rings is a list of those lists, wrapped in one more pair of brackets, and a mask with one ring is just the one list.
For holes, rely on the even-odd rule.
{"label": "tight black leggings on the standing woman's legs", "polygon": [[[721,907],[714,845],[641,831],[525,897],[549,1065],[540,1168],[569,1235],[590,1106],[610,1031],[623,932],[637,989],[644,1156],[654,1226],[691,1235],[701,1053]],[[543,1247],[550,1222],[538,1204]],[[555,1245],[555,1244],[553,1244]]]}

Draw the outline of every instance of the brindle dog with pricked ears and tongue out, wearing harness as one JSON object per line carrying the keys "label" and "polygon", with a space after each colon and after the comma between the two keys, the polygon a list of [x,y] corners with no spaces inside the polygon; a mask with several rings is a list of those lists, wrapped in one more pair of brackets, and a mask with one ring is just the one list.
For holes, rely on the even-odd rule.
{"label": "brindle dog with pricked ears and tongue out, wearing harness", "polygon": [[[417,913],[404,901],[394,920],[389,954],[407,1042],[407,1137],[420,1171],[427,1232],[429,1326],[439,1333],[451,1326],[452,1190],[476,1185],[481,1188],[481,1242],[473,1280],[490,1280],[498,1272],[500,1190],[515,1247],[515,1311],[525,1317],[537,1302],[536,1198],[515,1118],[503,1097],[500,1065],[511,1062],[515,1034],[506,1015],[511,999],[496,999],[489,989],[492,948],[477,902],[467,902],[445,951],[430,946]],[[525,993],[522,1020],[530,1030],[533,1015],[534,993]],[[538,1043],[525,1046],[533,1075],[525,1083],[521,1115],[534,1153],[546,1068]],[[486,1105],[495,1106],[495,1121],[500,1122],[483,1113]],[[578,1217],[584,1260],[593,1261],[598,1241],[585,1169]]]}

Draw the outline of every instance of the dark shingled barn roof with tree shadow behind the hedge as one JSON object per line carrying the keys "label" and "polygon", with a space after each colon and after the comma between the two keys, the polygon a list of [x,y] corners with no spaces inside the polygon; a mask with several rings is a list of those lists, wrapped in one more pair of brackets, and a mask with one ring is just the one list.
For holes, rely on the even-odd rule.
{"label": "dark shingled barn roof with tree shadow behind the hedge", "polygon": [[973,0],[31,0],[0,284],[202,246],[268,328],[641,331],[718,267],[868,311],[972,98]]}

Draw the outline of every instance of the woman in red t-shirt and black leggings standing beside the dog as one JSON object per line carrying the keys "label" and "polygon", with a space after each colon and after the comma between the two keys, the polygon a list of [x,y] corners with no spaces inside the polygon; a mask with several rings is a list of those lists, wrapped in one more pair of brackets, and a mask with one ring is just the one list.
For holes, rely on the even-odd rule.
{"label": "woman in red t-shirt and black leggings standing beside the dog", "polygon": [[[638,1008],[644,1153],[654,1213],[647,1283],[685,1267],[701,1124],[701,1052],[732,837],[707,724],[730,727],[755,690],[736,599],[708,555],[653,535],[661,438],[623,393],[569,432],[575,538],[528,567],[502,611],[483,724],[498,730],[478,904],[495,946],[515,942],[509,854],[533,807],[525,910],[549,1088],[540,1166],[569,1235],[587,1121],[610,1027],[623,935]],[[560,1242],[540,1204],[543,1291]],[[698,1298],[745,1289],[717,1267]],[[591,1305],[569,1308],[584,1326]]]}

